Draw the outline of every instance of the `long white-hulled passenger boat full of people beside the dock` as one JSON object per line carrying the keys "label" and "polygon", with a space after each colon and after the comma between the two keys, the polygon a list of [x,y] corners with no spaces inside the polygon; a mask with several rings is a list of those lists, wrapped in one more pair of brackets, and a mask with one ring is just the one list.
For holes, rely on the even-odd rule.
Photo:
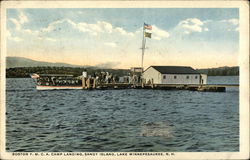
{"label": "long white-hulled passenger boat full of people beside the dock", "polygon": [[32,74],[37,90],[82,89],[82,78],[65,74]]}

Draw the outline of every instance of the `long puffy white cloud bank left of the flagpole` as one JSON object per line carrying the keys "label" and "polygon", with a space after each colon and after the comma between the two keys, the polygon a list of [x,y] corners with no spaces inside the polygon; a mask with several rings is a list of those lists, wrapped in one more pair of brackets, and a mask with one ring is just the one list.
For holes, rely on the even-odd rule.
{"label": "long puffy white cloud bank left of the flagpole", "polygon": [[[113,27],[111,23],[106,21],[97,21],[96,23],[85,23],[85,22],[75,22],[68,18],[51,22],[44,28],[40,28],[38,30],[32,30],[29,28],[22,27],[24,23],[27,23],[29,21],[23,12],[20,12],[18,17],[19,17],[18,19],[15,18],[9,19],[13,24],[15,24],[16,30],[19,33],[22,33],[22,36],[27,37],[29,35],[32,35],[34,36],[34,38],[39,40],[43,39],[55,42],[57,41],[56,37],[59,36],[60,38],[62,38],[60,36],[61,34],[58,34],[58,32],[63,32],[64,34],[69,33],[70,37],[76,36],[78,32],[88,33],[89,35],[92,36],[105,34],[106,37],[107,34],[109,35],[109,37],[110,36],[133,37],[135,35],[135,33],[128,32],[121,27]],[[105,45],[109,45],[110,47],[116,47],[115,43],[114,44],[107,43]]]}

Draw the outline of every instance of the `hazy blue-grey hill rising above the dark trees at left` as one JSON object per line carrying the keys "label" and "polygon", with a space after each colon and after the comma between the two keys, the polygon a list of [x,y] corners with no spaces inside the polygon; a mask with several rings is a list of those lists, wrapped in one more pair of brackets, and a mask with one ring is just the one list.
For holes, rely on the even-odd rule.
{"label": "hazy blue-grey hill rising above the dark trees at left", "polygon": [[6,58],[6,68],[15,68],[15,67],[86,67],[79,65],[72,65],[67,63],[50,63],[43,61],[35,61],[32,59],[24,58],[24,57],[7,57]]}

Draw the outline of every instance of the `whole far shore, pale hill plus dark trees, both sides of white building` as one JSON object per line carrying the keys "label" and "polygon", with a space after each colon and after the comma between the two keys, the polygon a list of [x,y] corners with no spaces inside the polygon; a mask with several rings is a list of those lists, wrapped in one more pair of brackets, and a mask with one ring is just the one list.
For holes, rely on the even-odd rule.
{"label": "whole far shore, pale hill plus dark trees, both sides of white building", "polygon": [[[129,69],[111,69],[116,66],[115,62],[108,62],[96,66],[79,66],[67,63],[49,63],[42,61],[35,61],[23,57],[7,57],[6,58],[6,77],[8,78],[22,78],[29,77],[30,73],[39,74],[73,74],[81,75],[83,70],[88,73],[108,71],[116,75],[127,75]],[[207,74],[208,76],[238,76],[239,67],[219,67],[196,69],[199,73]]]}

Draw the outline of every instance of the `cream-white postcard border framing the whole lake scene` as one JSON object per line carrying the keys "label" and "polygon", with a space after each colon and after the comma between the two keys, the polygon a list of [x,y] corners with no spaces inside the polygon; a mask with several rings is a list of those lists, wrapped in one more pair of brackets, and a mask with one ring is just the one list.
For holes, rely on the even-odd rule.
{"label": "cream-white postcard border framing the whole lake scene", "polygon": [[[5,151],[5,56],[7,8],[240,8],[240,152],[175,152],[175,156],[12,156]],[[0,159],[248,159],[249,158],[249,3],[246,1],[4,1],[1,2]]]}

